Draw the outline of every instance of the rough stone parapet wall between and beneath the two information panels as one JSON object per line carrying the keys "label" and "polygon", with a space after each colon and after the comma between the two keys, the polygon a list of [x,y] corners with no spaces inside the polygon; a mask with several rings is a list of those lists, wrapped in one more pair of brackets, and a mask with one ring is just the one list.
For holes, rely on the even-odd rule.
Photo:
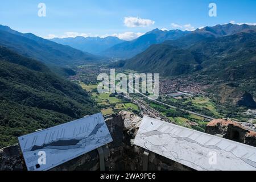
{"label": "rough stone parapet wall between and beneath the two information panels", "polygon": [[[106,171],[142,170],[144,149],[133,144],[142,118],[121,111],[106,119],[113,142],[102,147],[105,154]],[[61,164],[52,170],[86,170],[100,168],[97,150],[81,155],[76,159]],[[149,170],[191,170],[179,163],[150,152]],[[18,144],[0,150],[0,170],[26,170]]]}

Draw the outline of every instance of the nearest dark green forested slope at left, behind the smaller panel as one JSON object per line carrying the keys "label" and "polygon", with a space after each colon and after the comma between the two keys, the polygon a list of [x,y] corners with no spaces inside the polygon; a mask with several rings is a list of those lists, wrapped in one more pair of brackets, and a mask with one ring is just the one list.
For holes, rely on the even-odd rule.
{"label": "nearest dark green forested slope at left, behind the smaller panel", "polygon": [[1,46],[0,87],[0,148],[20,135],[98,111],[80,86]]}

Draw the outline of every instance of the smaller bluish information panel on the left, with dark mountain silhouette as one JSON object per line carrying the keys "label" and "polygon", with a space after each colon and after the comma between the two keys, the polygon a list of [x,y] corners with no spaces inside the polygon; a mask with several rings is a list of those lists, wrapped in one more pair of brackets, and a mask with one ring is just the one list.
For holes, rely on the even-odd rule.
{"label": "smaller bluish information panel on the left, with dark mountain silhouette", "polygon": [[112,142],[101,113],[19,137],[28,171],[43,171]]}

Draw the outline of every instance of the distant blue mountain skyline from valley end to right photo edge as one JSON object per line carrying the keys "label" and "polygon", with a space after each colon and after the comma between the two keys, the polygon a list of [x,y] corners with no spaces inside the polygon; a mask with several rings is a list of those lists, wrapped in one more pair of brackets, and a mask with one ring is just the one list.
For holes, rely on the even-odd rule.
{"label": "distant blue mountain skyline from valley end to right photo edge", "polygon": [[[191,46],[191,44],[205,38],[218,38],[233,35],[238,32],[255,30],[254,26],[247,24],[222,24],[214,27],[204,27],[195,31],[159,30],[156,28],[137,39],[131,41],[120,40],[117,37],[106,38],[77,36],[76,38],[50,39],[56,43],[68,45],[81,51],[90,52],[105,57],[117,59],[129,59],[138,53],[145,51],[153,44],[166,42],[172,46]],[[178,40],[178,41],[177,41]]]}

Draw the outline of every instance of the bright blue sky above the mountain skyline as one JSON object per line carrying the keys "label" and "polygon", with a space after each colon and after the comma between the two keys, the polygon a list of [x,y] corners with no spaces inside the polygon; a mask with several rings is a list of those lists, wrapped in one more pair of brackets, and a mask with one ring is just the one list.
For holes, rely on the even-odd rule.
{"label": "bright blue sky above the mountain skyline", "polygon": [[[38,16],[40,2],[46,4],[46,17]],[[217,5],[217,17],[208,15],[211,2]],[[0,24],[44,38],[115,35],[133,39],[154,28],[193,30],[232,20],[256,23],[255,0],[9,0],[0,3]],[[137,23],[132,24],[133,21]]]}

